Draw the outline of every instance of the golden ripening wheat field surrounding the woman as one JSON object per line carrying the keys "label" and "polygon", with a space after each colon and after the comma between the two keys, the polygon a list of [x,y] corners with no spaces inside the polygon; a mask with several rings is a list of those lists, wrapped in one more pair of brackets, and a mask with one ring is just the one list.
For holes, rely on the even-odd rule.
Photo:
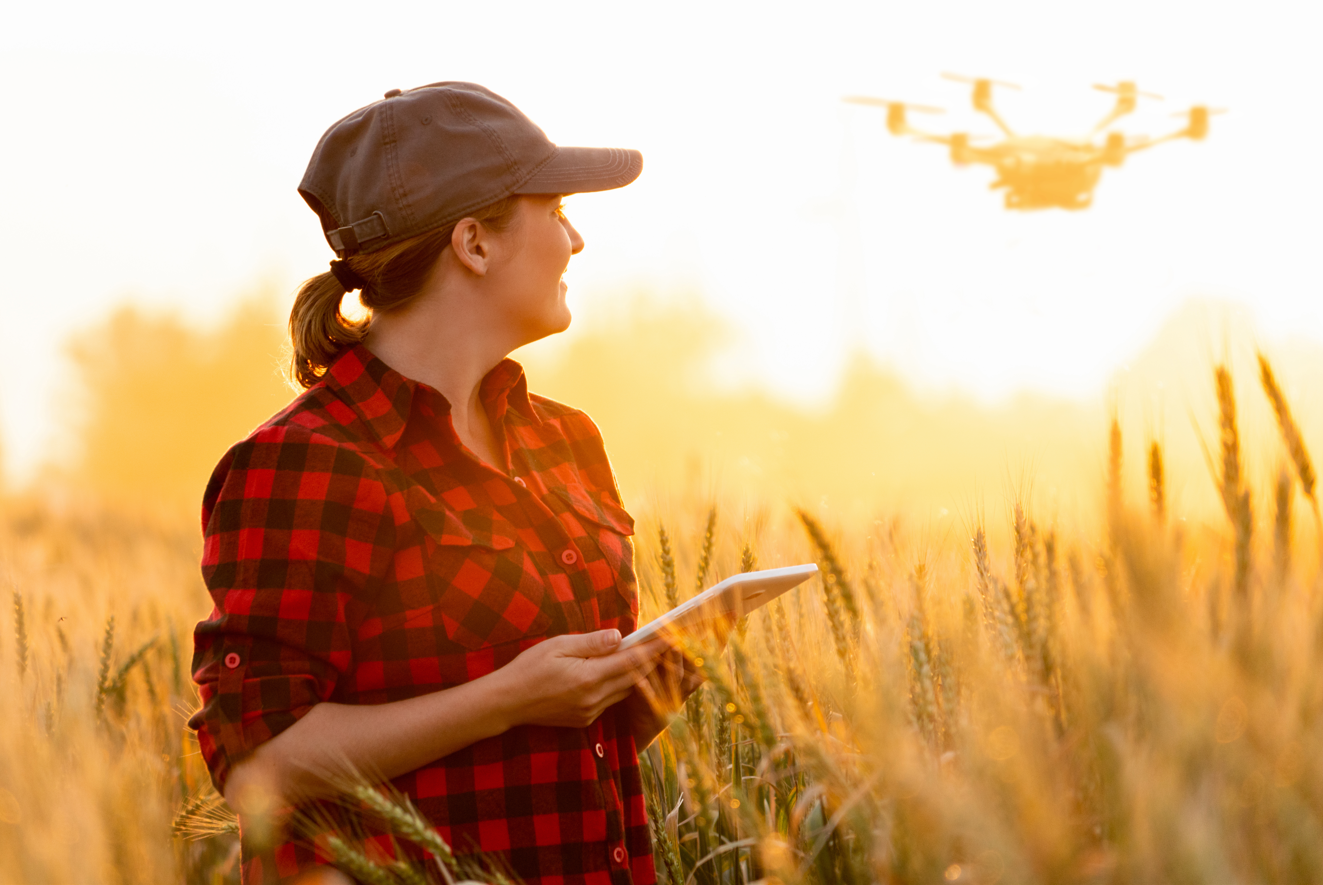
{"label": "golden ripening wheat field surrounding the woman", "polygon": [[[740,570],[822,568],[725,650],[689,648],[709,681],[643,759],[662,880],[1323,881],[1316,478],[1266,360],[1254,381],[1242,400],[1270,405],[1285,458],[1252,487],[1263,455],[1218,366],[1197,466],[1216,519],[1175,519],[1162,444],[1119,422],[1080,525],[1028,491],[943,532],[777,489],[640,513],[644,616]],[[0,503],[5,881],[238,880],[235,823],[184,729],[197,554],[169,508]],[[426,843],[407,807],[377,804]],[[329,836],[359,881],[479,874],[443,845],[393,866]]]}

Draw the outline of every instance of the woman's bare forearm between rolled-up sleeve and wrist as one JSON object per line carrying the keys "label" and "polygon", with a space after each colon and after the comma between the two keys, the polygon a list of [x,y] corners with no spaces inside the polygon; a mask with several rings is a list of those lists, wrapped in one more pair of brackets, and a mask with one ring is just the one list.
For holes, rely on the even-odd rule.
{"label": "woman's bare forearm between rolled-up sleeve and wrist", "polygon": [[515,722],[499,675],[390,704],[318,704],[234,767],[225,799],[239,810],[254,790],[278,804],[329,795],[336,775],[396,778],[501,734]]}

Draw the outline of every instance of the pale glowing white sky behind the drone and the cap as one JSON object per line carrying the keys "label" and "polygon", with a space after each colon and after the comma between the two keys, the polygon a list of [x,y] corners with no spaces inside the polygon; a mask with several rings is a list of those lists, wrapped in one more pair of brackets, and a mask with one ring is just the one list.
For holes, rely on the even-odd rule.
{"label": "pale glowing white sky behind the drone and the cap", "polygon": [[[638,148],[568,201],[579,324],[630,292],[728,320],[718,384],[828,396],[865,349],[919,389],[1098,397],[1195,298],[1323,344],[1323,12],[1303,3],[22,4],[0,32],[0,434],[12,478],[65,426],[65,341],[118,304],[205,324],[332,258],[296,194],[321,132],[393,87],[480,82],[560,144]],[[958,71],[1013,81],[1017,131],[1225,107],[1205,142],[1107,169],[1086,212],[1012,213],[986,168],[890,138],[873,94],[991,134]],[[916,118],[917,122],[917,118]],[[573,335],[573,331],[570,332]],[[536,381],[536,380],[534,380]],[[536,384],[534,384],[536,386]]]}

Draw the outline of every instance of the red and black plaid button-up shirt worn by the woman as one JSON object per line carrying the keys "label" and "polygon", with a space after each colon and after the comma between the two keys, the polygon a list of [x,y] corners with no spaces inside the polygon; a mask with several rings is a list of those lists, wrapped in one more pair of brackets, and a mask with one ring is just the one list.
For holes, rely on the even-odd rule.
{"label": "red and black plaid button-up shirt worn by the woman", "polygon": [[[512,360],[480,397],[509,475],[463,447],[441,394],[363,347],[221,459],[189,722],[217,788],[320,701],[400,701],[548,636],[635,628],[634,520],[597,426],[529,396]],[[651,885],[626,722],[615,706],[586,729],[519,726],[394,784],[456,852],[500,853],[531,884]],[[299,841],[245,845],[243,881],[316,863]]]}

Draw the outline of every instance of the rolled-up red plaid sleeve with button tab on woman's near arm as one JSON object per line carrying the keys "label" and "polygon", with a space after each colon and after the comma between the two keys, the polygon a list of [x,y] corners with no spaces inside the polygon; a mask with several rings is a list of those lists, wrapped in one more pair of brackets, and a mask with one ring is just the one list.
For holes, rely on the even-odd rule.
{"label": "rolled-up red plaid sleeve with button tab on woman's near arm", "polygon": [[275,425],[234,446],[202,501],[202,578],[189,720],[216,788],[258,745],[329,700],[390,565],[394,520],[376,471],[314,431]]}

